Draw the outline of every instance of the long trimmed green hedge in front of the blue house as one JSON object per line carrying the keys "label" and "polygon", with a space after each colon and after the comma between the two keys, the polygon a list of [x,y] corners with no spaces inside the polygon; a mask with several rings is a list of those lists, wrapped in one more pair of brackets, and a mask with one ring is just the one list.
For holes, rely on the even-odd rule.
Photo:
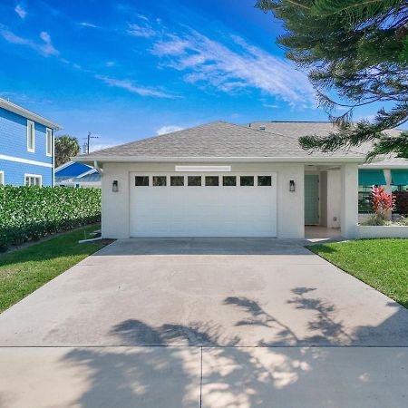
{"label": "long trimmed green hedge in front of the blue house", "polygon": [[0,187],[0,251],[100,220],[100,189]]}

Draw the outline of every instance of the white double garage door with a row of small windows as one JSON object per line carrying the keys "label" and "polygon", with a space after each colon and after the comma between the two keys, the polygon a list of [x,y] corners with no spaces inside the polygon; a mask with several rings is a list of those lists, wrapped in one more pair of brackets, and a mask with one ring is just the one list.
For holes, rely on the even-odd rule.
{"label": "white double garage door with a row of small windows", "polygon": [[276,237],[276,173],[131,173],[131,237]]}

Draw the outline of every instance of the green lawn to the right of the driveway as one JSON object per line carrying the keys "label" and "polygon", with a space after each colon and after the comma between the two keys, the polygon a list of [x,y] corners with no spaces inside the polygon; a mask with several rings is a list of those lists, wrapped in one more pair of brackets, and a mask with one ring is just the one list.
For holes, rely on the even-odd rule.
{"label": "green lawn to the right of the driveway", "polygon": [[408,239],[360,239],[307,248],[408,308]]}

